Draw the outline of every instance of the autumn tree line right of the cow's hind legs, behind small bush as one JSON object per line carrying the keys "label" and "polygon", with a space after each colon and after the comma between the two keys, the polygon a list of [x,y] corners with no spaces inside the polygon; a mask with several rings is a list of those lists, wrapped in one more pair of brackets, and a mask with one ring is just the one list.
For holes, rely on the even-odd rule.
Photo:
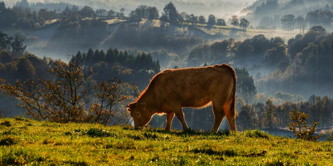
{"label": "autumn tree line right of the cow's hind legs, behind small bush", "polygon": [[[331,125],[333,119],[333,100],[312,95],[308,101],[293,103],[285,101],[277,106],[268,98],[265,103],[245,104],[238,109],[237,127],[247,128],[276,128],[289,126],[291,110],[304,112],[309,115],[307,123],[319,122],[321,126]],[[238,120],[237,120],[238,119]]]}

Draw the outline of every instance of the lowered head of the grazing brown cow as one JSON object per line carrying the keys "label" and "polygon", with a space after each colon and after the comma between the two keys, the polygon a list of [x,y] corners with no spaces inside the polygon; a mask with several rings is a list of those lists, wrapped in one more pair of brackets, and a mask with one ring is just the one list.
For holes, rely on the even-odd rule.
{"label": "lowered head of the grazing brown cow", "polygon": [[143,129],[152,118],[150,111],[146,110],[146,103],[134,102],[127,107],[127,111],[130,112],[134,121],[134,128],[136,129]]}

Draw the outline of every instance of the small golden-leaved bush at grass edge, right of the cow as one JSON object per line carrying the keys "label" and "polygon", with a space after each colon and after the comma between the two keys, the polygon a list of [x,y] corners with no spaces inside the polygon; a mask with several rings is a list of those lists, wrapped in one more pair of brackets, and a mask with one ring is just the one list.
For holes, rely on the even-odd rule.
{"label": "small golden-leaved bush at grass edge, right of the cow", "polygon": [[[319,122],[315,122],[311,127],[308,127],[305,120],[309,118],[308,114],[300,113],[298,111],[292,110],[290,112],[291,122],[289,123],[289,130],[294,132],[294,136],[300,139],[308,141],[316,141],[321,137],[321,132],[318,136],[313,136],[317,130],[316,126]],[[292,122],[295,121],[295,122]]]}

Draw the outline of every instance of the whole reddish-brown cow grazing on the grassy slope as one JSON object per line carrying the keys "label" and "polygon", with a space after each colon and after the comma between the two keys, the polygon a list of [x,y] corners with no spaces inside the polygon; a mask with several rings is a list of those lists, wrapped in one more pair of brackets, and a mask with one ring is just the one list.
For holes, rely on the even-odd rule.
{"label": "whole reddish-brown cow grazing on the grassy slope", "polygon": [[212,104],[215,120],[211,132],[218,130],[224,116],[230,130],[234,131],[235,92],[235,70],[227,64],[169,69],[156,74],[127,110],[137,129],[143,129],[154,114],[165,113],[166,130],[170,130],[174,114],[186,130],[188,126],[181,108],[201,108]]}

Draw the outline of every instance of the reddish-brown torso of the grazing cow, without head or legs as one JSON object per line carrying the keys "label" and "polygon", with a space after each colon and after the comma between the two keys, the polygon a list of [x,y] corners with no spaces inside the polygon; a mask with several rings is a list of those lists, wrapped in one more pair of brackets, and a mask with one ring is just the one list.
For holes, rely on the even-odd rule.
{"label": "reddish-brown torso of the grazing cow, without head or legs", "polygon": [[217,94],[230,94],[233,77],[223,65],[165,70],[157,74],[146,89],[155,93],[157,103],[202,107]]}

